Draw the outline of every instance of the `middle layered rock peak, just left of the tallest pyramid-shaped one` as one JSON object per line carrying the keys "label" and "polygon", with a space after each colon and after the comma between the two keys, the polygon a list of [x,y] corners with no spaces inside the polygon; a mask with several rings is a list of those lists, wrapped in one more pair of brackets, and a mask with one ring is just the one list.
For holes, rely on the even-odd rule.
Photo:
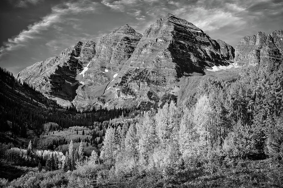
{"label": "middle layered rock peak, just left of the tallest pyramid-shaped one", "polygon": [[82,86],[79,86],[73,104],[88,107],[93,104],[104,105],[101,97],[107,91],[108,84],[124,66],[135,50],[142,35],[127,24],[104,35],[96,45],[96,55],[85,68]]}

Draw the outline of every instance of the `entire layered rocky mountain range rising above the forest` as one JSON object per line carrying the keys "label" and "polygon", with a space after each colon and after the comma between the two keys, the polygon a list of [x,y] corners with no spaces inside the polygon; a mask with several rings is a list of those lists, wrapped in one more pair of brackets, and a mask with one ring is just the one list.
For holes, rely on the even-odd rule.
{"label": "entire layered rocky mountain range rising above the forest", "polygon": [[97,44],[78,42],[58,57],[37,62],[22,70],[18,78],[65,106],[159,104],[170,93],[181,100],[215,71],[236,75],[234,67],[239,65],[282,61],[282,33],[246,36],[234,49],[168,13],[143,35],[126,24]]}

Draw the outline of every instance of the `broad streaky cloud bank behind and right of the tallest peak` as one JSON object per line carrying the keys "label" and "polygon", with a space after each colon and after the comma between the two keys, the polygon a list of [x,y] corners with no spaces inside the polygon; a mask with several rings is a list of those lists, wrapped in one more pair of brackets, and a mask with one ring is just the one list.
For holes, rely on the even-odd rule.
{"label": "broad streaky cloud bank behind and right of the tallest peak", "polygon": [[166,13],[186,19],[212,37],[228,39],[232,45],[244,32],[271,32],[270,27],[264,24],[274,27],[278,25],[275,20],[282,27],[279,19],[282,19],[283,2],[280,0],[103,0],[102,3],[113,10],[135,16],[141,33]]}

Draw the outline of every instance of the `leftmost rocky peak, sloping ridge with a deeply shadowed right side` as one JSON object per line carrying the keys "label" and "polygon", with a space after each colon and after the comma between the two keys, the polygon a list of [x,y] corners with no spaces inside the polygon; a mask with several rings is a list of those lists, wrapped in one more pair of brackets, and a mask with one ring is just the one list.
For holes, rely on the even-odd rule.
{"label": "leftmost rocky peak, sloping ridge with a deeply shadowed right side", "polygon": [[95,43],[77,42],[63,50],[57,57],[37,62],[18,74],[18,79],[34,86],[49,97],[55,97],[61,104],[70,105],[80,85],[77,73],[95,55]]}

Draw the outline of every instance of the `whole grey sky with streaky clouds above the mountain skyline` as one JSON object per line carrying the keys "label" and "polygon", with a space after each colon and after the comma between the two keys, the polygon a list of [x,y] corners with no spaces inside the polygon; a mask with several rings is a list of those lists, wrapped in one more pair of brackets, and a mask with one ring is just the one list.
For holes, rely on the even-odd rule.
{"label": "whole grey sky with streaky clouds above the mountain skyline", "polygon": [[283,29],[283,0],[1,0],[0,66],[16,75],[125,24],[143,34],[167,13],[234,47],[243,36]]}

